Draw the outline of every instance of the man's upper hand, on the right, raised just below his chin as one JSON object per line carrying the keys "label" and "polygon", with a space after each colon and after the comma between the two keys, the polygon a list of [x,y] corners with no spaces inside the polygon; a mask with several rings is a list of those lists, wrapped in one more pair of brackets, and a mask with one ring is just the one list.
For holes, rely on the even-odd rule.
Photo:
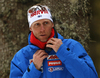
{"label": "man's upper hand, on the right, raised just below his chin", "polygon": [[[49,43],[51,43],[52,45],[50,45]],[[51,38],[47,41],[47,45],[46,47],[50,47],[52,48],[55,52],[58,51],[59,47],[62,45],[62,40],[58,39],[58,38]]]}

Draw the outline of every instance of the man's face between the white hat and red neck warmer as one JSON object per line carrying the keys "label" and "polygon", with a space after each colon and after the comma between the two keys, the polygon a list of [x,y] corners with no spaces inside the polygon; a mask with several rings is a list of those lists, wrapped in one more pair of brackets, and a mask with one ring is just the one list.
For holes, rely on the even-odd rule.
{"label": "man's face between the white hat and red neck warmer", "polygon": [[49,19],[41,19],[32,23],[30,31],[41,42],[46,42],[51,35],[54,24]]}

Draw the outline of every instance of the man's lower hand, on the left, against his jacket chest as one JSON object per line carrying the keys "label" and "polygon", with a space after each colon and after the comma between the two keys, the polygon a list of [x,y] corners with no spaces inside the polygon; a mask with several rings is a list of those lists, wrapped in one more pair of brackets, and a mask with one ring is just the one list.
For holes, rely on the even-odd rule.
{"label": "man's lower hand, on the left, against his jacket chest", "polygon": [[48,57],[48,54],[44,50],[37,50],[33,55],[33,63],[37,70],[42,66],[43,60]]}

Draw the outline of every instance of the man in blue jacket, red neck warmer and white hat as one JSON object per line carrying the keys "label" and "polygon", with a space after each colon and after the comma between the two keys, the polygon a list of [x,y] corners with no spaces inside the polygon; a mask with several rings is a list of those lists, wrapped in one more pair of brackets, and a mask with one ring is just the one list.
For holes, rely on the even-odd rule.
{"label": "man in blue jacket, red neck warmer and white hat", "polygon": [[12,59],[10,78],[98,78],[82,45],[55,31],[47,6],[29,8],[28,22],[29,45]]}

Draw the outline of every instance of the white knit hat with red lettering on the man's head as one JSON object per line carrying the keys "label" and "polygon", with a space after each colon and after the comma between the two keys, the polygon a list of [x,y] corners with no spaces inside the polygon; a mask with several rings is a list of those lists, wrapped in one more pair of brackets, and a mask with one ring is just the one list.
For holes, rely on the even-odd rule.
{"label": "white knit hat with red lettering on the man's head", "polygon": [[40,19],[49,19],[53,22],[52,15],[47,6],[32,6],[31,8],[28,9],[29,27],[31,27],[33,22]]}

